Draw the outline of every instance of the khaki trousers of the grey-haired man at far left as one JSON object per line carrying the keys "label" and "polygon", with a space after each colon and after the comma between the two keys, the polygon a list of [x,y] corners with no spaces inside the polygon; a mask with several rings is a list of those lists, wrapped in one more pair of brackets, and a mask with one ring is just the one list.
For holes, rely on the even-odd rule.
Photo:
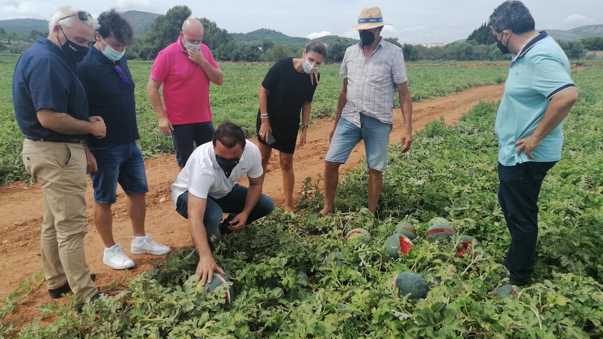
{"label": "khaki trousers of the grey-haired man at far left", "polygon": [[81,144],[23,143],[25,169],[42,186],[42,265],[48,289],[65,282],[87,300],[98,290],[90,279],[84,253],[86,218],[86,151]]}

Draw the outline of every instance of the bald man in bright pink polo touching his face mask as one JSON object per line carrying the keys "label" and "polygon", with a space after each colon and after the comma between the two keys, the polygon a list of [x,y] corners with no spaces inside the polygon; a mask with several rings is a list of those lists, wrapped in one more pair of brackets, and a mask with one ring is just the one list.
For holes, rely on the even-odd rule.
{"label": "bald man in bright pink polo touching his face mask", "polygon": [[[212,141],[212,110],[209,108],[209,81],[220,86],[224,74],[203,45],[203,25],[186,19],[178,40],[157,54],[147,93],[159,119],[159,129],[172,135],[180,169],[193,151]],[[163,106],[159,87],[163,84]]]}

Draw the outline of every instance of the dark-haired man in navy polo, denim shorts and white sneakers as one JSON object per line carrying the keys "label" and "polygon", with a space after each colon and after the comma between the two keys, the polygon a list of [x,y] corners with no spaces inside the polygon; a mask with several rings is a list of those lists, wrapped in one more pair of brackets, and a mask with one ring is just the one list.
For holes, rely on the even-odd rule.
{"label": "dark-haired man in navy polo, denim shorts and white sneakers", "polygon": [[111,206],[117,198],[118,183],[127,194],[126,208],[133,230],[130,252],[165,255],[170,249],[145,234],[147,175],[142,153],[136,145],[140,137],[136,126],[134,80],[124,56],[134,31],[116,10],[101,13],[98,24],[96,43],[78,63],[89,112],[101,116],[107,124],[105,138],[90,138],[87,142],[88,170],[95,201],[92,217],[105,245],[104,264],[123,270],[133,267],[134,261],[113,239]]}

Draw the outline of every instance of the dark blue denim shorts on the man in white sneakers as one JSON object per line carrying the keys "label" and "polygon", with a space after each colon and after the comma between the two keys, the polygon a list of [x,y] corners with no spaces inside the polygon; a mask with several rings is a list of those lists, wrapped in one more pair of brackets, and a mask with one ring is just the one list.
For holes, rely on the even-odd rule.
{"label": "dark blue denim shorts on the man in white sneakers", "polygon": [[145,162],[136,142],[93,148],[98,171],[90,172],[94,201],[113,204],[117,200],[117,184],[125,194],[148,192]]}

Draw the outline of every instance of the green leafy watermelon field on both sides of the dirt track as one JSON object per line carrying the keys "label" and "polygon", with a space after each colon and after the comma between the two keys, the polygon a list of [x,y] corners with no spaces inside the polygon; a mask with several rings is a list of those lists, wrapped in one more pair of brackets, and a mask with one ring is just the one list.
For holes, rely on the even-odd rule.
{"label": "green leafy watermelon field on both sides of the dirt track", "polygon": [[[148,67],[134,63],[133,71],[146,69],[148,74]],[[233,111],[253,115],[256,104],[244,99],[253,96],[266,68],[223,68],[231,76],[240,72],[233,80],[240,83],[212,92],[216,120],[236,116]],[[490,72],[481,73],[484,70]],[[445,73],[451,71],[476,73]],[[5,105],[7,80],[2,72]],[[336,66],[323,72],[328,76],[323,75],[316,106],[329,115],[338,80],[327,79],[335,79]],[[409,68],[411,79],[417,79],[411,83],[416,99],[460,89],[452,83],[462,87],[504,80],[504,72],[490,67]],[[143,83],[146,75],[137,76]],[[298,202],[302,211],[277,210],[239,234],[216,241],[216,262],[229,283],[213,291],[198,288],[191,278],[198,256],[184,248],[129,279],[127,290],[102,297],[95,304],[98,314],[86,307],[77,315],[72,310],[75,301],[50,303],[39,307],[41,318],[21,329],[3,321],[0,336],[603,338],[603,67],[589,66],[572,77],[580,98],[564,122],[563,159],[543,183],[531,285],[500,288],[508,284],[500,261],[510,238],[496,197],[497,103],[481,103],[456,125],[429,124],[415,135],[408,153],[390,148],[376,218],[362,209],[365,165],[340,182],[337,211],[325,218],[313,216],[321,206],[320,182],[306,179],[303,191],[309,193]],[[142,87],[137,87],[139,98]],[[162,143],[153,139],[160,137],[150,127],[147,106],[139,101],[143,142],[156,145],[150,152],[159,153]],[[6,110],[2,106],[3,124]],[[247,115],[237,119],[244,125],[251,121]],[[245,126],[250,130],[250,123]],[[2,151],[2,157],[8,154]],[[385,244],[391,245],[387,239],[404,222],[417,236],[403,246],[408,255],[394,251],[393,258]],[[455,232],[432,241],[428,229],[434,223],[449,223]],[[346,238],[358,228],[370,239],[364,232]],[[463,236],[475,237],[481,246],[473,241],[469,250],[459,252]],[[394,284],[403,272],[408,273],[402,277],[412,279]],[[0,316],[13,312],[41,279],[38,274],[24,280],[5,296]],[[232,293],[225,297],[228,288]]]}

